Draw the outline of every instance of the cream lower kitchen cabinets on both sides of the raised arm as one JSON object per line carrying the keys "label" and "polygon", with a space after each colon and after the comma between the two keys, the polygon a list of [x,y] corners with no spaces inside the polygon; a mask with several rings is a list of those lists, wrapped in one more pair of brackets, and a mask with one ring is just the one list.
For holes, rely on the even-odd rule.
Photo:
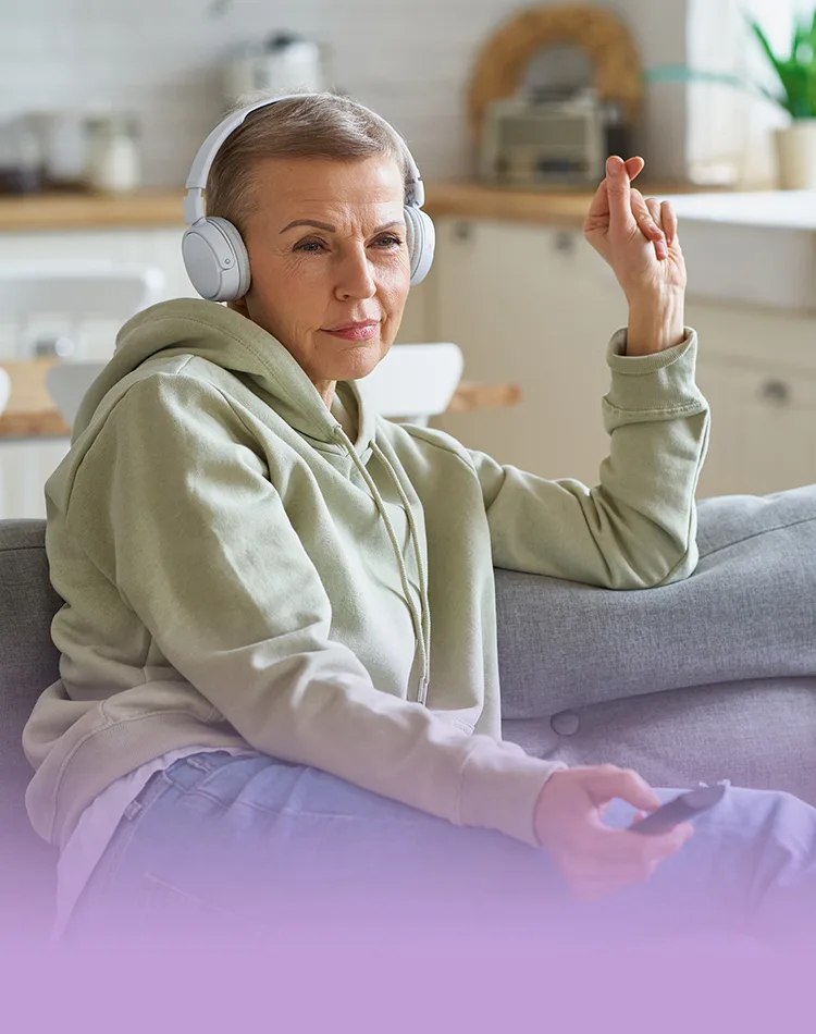
{"label": "cream lower kitchen cabinets on both sides of the raised arm", "polygon": [[[608,439],[609,335],[625,325],[613,274],[578,232],[437,221],[432,337],[456,342],[469,380],[515,382],[521,405],[435,421],[466,445],[546,477],[597,479]],[[698,497],[816,482],[816,311],[690,298],[697,381],[712,406]]]}

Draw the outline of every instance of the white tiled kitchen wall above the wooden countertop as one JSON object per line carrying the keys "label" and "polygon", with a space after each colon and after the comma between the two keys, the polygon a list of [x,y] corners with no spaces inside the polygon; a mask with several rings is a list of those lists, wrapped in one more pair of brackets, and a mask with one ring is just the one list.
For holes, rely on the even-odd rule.
{"label": "white tiled kitchen wall above the wooden countertop", "polygon": [[[685,58],[689,0],[606,0],[650,64]],[[219,62],[276,29],[330,44],[337,85],[408,137],[428,177],[469,171],[463,85],[483,39],[515,0],[0,0],[0,121],[23,109],[133,109],[147,182],[177,184],[221,111]],[[651,90],[643,148],[679,174],[685,94]]]}

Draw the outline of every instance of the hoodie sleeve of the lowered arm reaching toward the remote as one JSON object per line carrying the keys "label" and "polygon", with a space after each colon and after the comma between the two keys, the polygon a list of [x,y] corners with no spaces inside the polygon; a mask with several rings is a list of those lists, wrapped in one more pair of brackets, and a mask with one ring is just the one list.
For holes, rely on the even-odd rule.
{"label": "hoodie sleeve of the lowered arm reaching toward the remote", "polygon": [[332,640],[321,579],[218,390],[169,374],[131,387],[67,518],[164,657],[252,748],[536,845],[535,801],[562,766],[379,690]]}

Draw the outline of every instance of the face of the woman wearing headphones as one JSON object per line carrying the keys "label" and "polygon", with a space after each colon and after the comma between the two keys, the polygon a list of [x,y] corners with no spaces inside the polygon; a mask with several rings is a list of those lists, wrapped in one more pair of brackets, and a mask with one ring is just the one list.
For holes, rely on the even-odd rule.
{"label": "face of the woman wearing headphones", "polygon": [[267,159],[244,241],[252,281],[232,304],[297,359],[326,404],[370,373],[403,318],[410,266],[396,161]]}

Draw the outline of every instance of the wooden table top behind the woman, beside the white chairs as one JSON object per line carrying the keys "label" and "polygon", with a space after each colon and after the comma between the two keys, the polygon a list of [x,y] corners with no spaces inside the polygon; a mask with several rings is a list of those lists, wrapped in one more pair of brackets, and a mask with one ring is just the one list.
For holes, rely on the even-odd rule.
{"label": "wooden table top behind the woman, beside the white chairs", "polygon": [[[0,439],[69,438],[71,429],[54,409],[46,387],[53,360],[1,361],[11,378],[11,397],[0,414]],[[515,406],[521,401],[517,384],[478,384],[462,381],[447,413],[470,413]]]}

